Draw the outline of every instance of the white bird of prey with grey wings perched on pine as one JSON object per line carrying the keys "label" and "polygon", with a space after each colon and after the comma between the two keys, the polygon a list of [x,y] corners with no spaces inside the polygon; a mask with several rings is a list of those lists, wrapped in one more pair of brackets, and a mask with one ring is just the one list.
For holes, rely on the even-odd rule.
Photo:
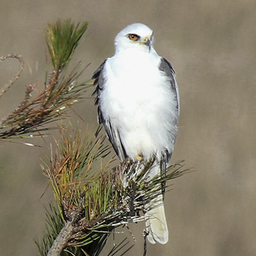
{"label": "white bird of prey with grey wings perched on pine", "polygon": [[[148,179],[164,177],[179,120],[175,71],[157,54],[153,42],[153,31],[145,24],[125,27],[115,37],[115,54],[92,77],[98,121],[120,161],[129,157],[147,163],[155,157]],[[152,244],[168,242],[163,200],[164,191],[145,206],[147,239]]]}

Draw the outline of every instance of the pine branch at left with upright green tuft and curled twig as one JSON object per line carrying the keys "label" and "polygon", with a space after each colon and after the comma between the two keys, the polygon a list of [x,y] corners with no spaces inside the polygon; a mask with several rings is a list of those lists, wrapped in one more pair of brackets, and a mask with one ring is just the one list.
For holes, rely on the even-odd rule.
{"label": "pine branch at left with upright green tuft and curled twig", "polygon": [[[24,100],[0,122],[0,141],[42,136],[42,133],[49,130],[45,125],[67,117],[65,113],[68,107],[76,103],[84,90],[90,86],[88,82],[77,82],[83,73],[79,71],[79,64],[66,75],[68,63],[87,25],[87,22],[83,22],[75,26],[70,20],[58,20],[55,24],[47,26],[45,38],[52,72],[46,76],[45,89],[35,99],[31,99],[31,93],[35,90],[36,84],[26,84]],[[19,55],[8,54],[1,57],[0,61],[6,58],[17,58],[20,61],[20,68],[9,84],[1,89],[0,96],[17,81],[24,66],[24,61]]]}

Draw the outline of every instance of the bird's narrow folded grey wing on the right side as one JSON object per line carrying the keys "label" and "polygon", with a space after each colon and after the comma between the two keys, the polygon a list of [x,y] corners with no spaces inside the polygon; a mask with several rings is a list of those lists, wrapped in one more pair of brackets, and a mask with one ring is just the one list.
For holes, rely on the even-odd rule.
{"label": "bird's narrow folded grey wing on the right side", "polygon": [[[168,81],[170,81],[170,88],[173,92],[173,94],[176,96],[175,101],[176,101],[176,111],[177,111],[177,116],[173,119],[173,127],[174,129],[177,129],[177,124],[179,120],[179,90],[177,86],[177,81],[176,81],[176,76],[175,76],[175,71],[172,68],[172,64],[166,60],[165,58],[161,58],[161,63],[159,65],[159,70],[164,72],[165,76],[168,77]],[[170,127],[170,129],[173,129],[173,127]],[[175,131],[175,137],[176,137],[176,131]],[[175,138],[173,141],[173,144],[175,143]],[[168,151],[167,149],[163,152],[162,157],[161,157],[161,176],[164,177],[166,175],[165,170],[170,162],[172,157],[172,152]],[[164,188],[165,188],[165,182],[162,184],[162,191],[164,195]]]}

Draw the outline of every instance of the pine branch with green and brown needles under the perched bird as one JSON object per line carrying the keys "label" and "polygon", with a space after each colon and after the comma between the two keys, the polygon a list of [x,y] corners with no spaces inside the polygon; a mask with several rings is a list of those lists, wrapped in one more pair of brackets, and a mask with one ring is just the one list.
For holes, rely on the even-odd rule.
{"label": "pine branch with green and brown needles under the perched bird", "polygon": [[[87,133],[82,140],[79,130],[72,137],[70,131],[61,129],[61,140],[56,143],[58,149],[51,157],[51,164],[45,165],[44,173],[54,192],[62,230],[67,228],[68,236],[61,238],[61,231],[51,249],[50,243],[46,243],[49,246],[45,248],[45,253],[49,251],[47,255],[60,255],[59,249],[66,247],[83,248],[90,256],[99,255],[102,243],[106,243],[116,227],[144,220],[140,215],[144,205],[162,193],[162,182],[188,172],[182,170],[183,162],[180,161],[167,168],[165,177],[159,175],[146,182],[154,159],[147,164],[126,159],[113,170],[109,170],[108,165],[99,170],[99,163],[108,152],[104,138]],[[52,232],[58,234],[54,229]],[[98,253],[93,253],[95,250]]]}

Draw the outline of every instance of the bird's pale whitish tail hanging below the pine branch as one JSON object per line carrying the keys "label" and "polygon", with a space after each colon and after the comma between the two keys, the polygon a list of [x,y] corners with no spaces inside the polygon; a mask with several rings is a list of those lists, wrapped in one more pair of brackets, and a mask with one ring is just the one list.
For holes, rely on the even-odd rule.
{"label": "bird's pale whitish tail hanging below the pine branch", "polygon": [[166,244],[169,232],[164,214],[163,196],[159,195],[152,201],[150,205],[156,204],[156,207],[150,207],[151,209],[145,213],[147,239],[151,244]]}

